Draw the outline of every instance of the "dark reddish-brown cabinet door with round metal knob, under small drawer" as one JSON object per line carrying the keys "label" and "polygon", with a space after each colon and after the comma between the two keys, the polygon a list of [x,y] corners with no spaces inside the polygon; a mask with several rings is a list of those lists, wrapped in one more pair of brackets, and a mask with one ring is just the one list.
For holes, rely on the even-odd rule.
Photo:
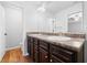
{"label": "dark reddish-brown cabinet door with round metal knob, under small drawer", "polygon": [[40,63],[48,63],[48,52],[40,47]]}

